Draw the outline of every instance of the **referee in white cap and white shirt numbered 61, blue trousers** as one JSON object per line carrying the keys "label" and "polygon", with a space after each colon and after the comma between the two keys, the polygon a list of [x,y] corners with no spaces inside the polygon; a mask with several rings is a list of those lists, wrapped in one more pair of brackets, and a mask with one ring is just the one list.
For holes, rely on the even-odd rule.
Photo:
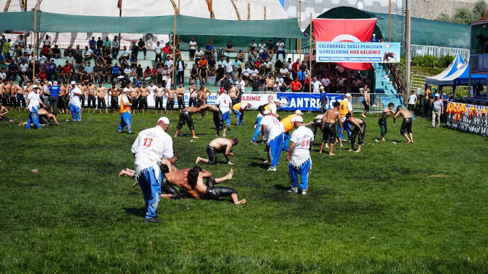
{"label": "referee in white cap and white shirt numbered 61, blue trousers", "polygon": [[305,127],[303,117],[295,116],[291,118],[296,130],[291,135],[290,151],[286,155],[289,163],[289,177],[291,189],[288,192],[298,193],[298,175],[300,175],[300,189],[302,195],[306,195],[308,188],[308,174],[312,167],[310,150],[313,147],[313,132]]}

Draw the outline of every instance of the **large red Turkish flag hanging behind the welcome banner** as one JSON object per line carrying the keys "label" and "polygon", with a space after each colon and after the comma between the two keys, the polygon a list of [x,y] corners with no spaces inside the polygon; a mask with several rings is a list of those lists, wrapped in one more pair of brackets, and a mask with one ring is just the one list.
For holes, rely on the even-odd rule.
{"label": "large red Turkish flag hanging behind the welcome banner", "polygon": [[[369,42],[376,18],[314,19],[313,31],[318,42]],[[352,70],[369,70],[371,63],[339,63]]]}

